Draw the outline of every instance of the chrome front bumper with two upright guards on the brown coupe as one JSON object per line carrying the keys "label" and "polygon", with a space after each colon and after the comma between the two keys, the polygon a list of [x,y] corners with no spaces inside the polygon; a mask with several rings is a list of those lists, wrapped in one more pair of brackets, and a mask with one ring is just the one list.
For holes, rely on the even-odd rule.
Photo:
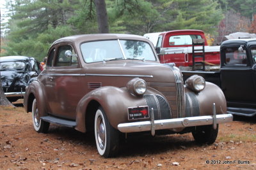
{"label": "chrome front bumper with two upright guards on the brown coupe", "polygon": [[201,116],[201,117],[185,117],[185,118],[172,118],[164,120],[154,120],[154,111],[150,110],[150,121],[143,122],[131,122],[118,124],[118,130],[120,132],[143,132],[151,131],[154,136],[156,130],[161,129],[173,129],[179,127],[193,127],[200,125],[212,125],[216,129],[217,124],[223,124],[232,122],[232,114],[221,114],[216,115],[215,104],[213,104],[213,115],[212,116]]}

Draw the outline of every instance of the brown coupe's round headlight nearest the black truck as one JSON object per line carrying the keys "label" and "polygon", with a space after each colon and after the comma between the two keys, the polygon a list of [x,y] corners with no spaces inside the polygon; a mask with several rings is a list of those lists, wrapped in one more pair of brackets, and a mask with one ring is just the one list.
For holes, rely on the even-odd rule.
{"label": "brown coupe's round headlight nearest the black truck", "polygon": [[185,81],[185,85],[194,92],[200,92],[204,90],[205,80],[202,76],[193,75]]}

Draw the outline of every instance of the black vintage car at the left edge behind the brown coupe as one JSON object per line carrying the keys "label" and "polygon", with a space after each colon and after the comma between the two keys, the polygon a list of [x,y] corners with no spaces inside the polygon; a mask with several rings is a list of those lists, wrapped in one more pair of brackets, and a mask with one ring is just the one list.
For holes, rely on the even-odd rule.
{"label": "black vintage car at the left edge behind the brown coupe", "polygon": [[4,94],[10,102],[23,98],[26,86],[40,73],[39,63],[33,57],[0,57],[1,81]]}

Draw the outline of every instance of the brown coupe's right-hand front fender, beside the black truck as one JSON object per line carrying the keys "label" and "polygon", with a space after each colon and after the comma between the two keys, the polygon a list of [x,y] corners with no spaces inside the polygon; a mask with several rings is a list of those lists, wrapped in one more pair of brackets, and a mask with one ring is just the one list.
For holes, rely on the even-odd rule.
{"label": "brown coupe's right-hand front fender, beside the black truck", "polygon": [[212,115],[213,103],[216,106],[216,114],[227,113],[225,96],[220,87],[213,83],[205,82],[205,89],[197,94],[185,87],[185,94],[186,117]]}

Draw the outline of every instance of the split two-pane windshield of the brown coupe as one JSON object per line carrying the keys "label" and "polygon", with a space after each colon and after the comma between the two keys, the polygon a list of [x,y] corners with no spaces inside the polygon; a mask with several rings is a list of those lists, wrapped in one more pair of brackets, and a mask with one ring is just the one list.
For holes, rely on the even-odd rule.
{"label": "split two-pane windshield of the brown coupe", "polygon": [[134,40],[87,42],[81,45],[81,52],[87,63],[125,59],[156,60],[148,43]]}

